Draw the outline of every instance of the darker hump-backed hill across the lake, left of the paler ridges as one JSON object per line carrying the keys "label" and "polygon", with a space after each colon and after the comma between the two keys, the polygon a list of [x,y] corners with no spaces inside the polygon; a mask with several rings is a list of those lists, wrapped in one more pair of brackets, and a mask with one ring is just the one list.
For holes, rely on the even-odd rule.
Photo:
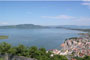
{"label": "darker hump-backed hill across the lake, left of the paler ridges", "polygon": [[36,28],[49,28],[48,26],[40,26],[34,24],[19,24],[19,25],[7,25],[0,26],[0,29],[17,28],[17,29],[36,29]]}

